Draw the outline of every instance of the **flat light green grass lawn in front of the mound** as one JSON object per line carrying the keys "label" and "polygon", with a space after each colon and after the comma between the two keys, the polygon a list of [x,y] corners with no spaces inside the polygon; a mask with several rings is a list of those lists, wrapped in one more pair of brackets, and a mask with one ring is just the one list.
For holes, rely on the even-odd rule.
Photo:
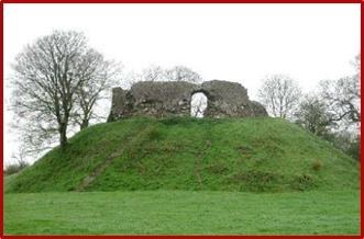
{"label": "flat light green grass lawn in front of the mound", "polygon": [[4,194],[7,235],[359,235],[359,191]]}

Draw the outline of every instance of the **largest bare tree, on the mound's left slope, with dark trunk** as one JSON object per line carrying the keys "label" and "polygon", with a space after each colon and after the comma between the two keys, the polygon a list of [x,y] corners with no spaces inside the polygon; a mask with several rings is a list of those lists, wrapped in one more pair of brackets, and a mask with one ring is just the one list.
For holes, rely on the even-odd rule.
{"label": "largest bare tree, on the mound's left slope, with dark trunk", "polygon": [[96,53],[87,46],[84,34],[74,31],[55,31],[18,55],[12,105],[18,117],[32,123],[29,128],[35,130],[31,134],[57,132],[60,147],[67,145],[76,95],[99,73],[98,61],[90,60],[92,55]]}

